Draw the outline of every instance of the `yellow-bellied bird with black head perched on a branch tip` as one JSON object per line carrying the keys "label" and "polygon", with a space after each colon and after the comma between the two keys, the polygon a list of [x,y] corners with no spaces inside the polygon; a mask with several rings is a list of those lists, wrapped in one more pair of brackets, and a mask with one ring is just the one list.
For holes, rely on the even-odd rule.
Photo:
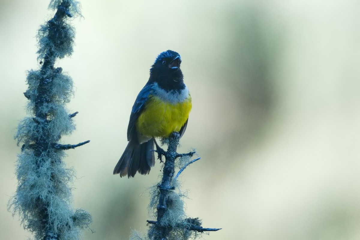
{"label": "yellow-bellied bird with black head perched on a branch tip", "polygon": [[114,175],[130,178],[136,172],[149,174],[155,164],[155,138],[166,138],[174,131],[179,132],[180,137],[184,135],[192,100],[180,64],[179,53],[167,50],[160,53],[151,66],[149,80],[132,106],[127,127],[129,142],[114,168]]}

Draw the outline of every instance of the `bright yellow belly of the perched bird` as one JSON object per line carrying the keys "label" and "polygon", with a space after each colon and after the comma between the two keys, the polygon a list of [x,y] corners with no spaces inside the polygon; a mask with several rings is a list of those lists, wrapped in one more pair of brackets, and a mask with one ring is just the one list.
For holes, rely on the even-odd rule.
{"label": "bright yellow belly of the perched bird", "polygon": [[180,131],[191,110],[190,94],[181,103],[171,104],[156,96],[150,96],[145,109],[137,119],[136,130],[148,137],[168,137],[170,133]]}

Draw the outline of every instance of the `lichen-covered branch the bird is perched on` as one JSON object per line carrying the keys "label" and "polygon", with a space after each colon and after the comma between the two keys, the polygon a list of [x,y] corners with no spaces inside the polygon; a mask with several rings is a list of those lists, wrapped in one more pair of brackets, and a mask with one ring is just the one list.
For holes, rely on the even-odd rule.
{"label": "lichen-covered branch the bird is perched on", "polygon": [[[203,228],[199,218],[188,218],[184,211],[183,198],[185,194],[180,190],[180,184],[177,177],[189,164],[199,160],[200,158],[190,160],[194,151],[186,154],[178,154],[176,152],[179,144],[180,134],[173,132],[168,138],[168,149],[164,151],[157,145],[157,153],[161,159],[161,155],[165,156],[165,164],[161,183],[154,186],[151,193],[149,204],[150,209],[156,209],[156,221],[147,220],[152,224],[148,231],[150,240],[187,240],[195,239],[198,233],[204,231],[217,231],[221,228]],[[175,160],[180,158],[177,163]],[[180,171],[174,178],[175,166]],[[134,235],[132,239],[140,239],[138,235]]]}

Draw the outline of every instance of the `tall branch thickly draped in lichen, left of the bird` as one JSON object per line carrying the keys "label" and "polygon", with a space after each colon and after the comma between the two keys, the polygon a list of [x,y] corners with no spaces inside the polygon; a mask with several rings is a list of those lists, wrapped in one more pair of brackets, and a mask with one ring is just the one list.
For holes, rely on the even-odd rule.
{"label": "tall branch thickly draped in lichen, left of the bird", "polygon": [[81,15],[79,3],[73,0],[53,0],[49,8],[57,10],[54,17],[40,27],[38,59],[41,68],[28,72],[28,112],[15,138],[23,144],[18,156],[16,174],[18,186],[9,201],[9,210],[18,214],[25,229],[34,239],[78,239],[81,230],[89,227],[91,216],[83,209],[71,207],[71,187],[75,177],[66,168],[64,150],[76,145],[60,144],[63,135],[74,129],[65,104],[73,95],[72,78],[55,68],[55,61],[73,51],[74,28],[67,23],[73,15]]}

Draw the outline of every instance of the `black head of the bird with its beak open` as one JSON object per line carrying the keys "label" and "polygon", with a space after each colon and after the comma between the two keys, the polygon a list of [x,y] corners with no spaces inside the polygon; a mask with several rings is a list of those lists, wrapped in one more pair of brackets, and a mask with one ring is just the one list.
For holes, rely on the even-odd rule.
{"label": "black head of the bird with its beak open", "polygon": [[165,90],[184,89],[184,76],[180,64],[180,55],[175,51],[167,50],[160,53],[150,68],[149,82],[156,82]]}

